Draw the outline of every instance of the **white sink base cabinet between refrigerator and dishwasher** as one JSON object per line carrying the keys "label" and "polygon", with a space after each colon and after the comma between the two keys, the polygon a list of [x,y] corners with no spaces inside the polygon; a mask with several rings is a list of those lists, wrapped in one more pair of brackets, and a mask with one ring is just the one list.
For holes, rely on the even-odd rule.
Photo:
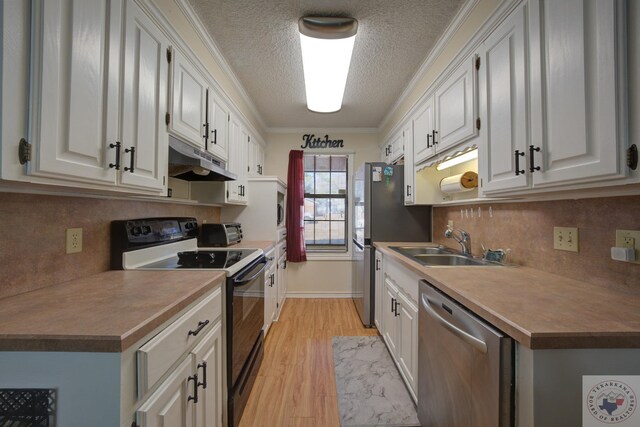
{"label": "white sink base cabinet between refrigerator and dishwasher", "polygon": [[385,259],[383,276],[382,295],[376,297],[376,306],[382,307],[378,328],[411,397],[417,400],[420,278],[393,259]]}

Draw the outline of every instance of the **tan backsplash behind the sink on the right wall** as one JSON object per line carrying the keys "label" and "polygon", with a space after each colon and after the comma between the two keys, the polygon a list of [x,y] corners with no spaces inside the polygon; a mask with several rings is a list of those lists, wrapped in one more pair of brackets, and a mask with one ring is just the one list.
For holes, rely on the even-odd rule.
{"label": "tan backsplash behind the sink on the right wall", "polygon": [[[449,220],[474,254],[509,248],[509,263],[640,294],[640,264],[611,259],[615,230],[640,230],[640,196],[434,208],[433,240],[459,248],[444,237]],[[554,250],[553,227],[578,227],[579,252]]]}

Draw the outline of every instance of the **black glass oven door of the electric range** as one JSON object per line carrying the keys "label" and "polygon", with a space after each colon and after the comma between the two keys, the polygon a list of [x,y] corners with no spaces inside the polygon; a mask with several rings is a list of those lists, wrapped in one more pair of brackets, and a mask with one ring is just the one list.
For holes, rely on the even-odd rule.
{"label": "black glass oven door of the electric range", "polygon": [[262,256],[228,279],[227,363],[229,388],[236,385],[264,326],[264,271]]}

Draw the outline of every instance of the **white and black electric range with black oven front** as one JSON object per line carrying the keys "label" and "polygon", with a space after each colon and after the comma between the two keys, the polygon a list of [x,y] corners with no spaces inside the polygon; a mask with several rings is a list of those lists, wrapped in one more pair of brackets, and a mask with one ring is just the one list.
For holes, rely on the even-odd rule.
{"label": "white and black electric range with black oven front", "polygon": [[[239,224],[238,224],[239,226]],[[222,270],[228,426],[240,422],[262,357],[264,272],[261,249],[198,247],[195,218],[145,218],[111,224],[112,267],[125,270]]]}

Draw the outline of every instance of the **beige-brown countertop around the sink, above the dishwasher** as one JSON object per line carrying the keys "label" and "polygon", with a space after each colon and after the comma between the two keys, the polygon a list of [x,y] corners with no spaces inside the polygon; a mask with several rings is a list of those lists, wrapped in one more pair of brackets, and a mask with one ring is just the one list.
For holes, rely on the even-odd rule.
{"label": "beige-brown countertop around the sink, above the dishwasher", "polygon": [[531,349],[640,348],[640,297],[528,267],[425,267],[376,243],[478,316]]}

